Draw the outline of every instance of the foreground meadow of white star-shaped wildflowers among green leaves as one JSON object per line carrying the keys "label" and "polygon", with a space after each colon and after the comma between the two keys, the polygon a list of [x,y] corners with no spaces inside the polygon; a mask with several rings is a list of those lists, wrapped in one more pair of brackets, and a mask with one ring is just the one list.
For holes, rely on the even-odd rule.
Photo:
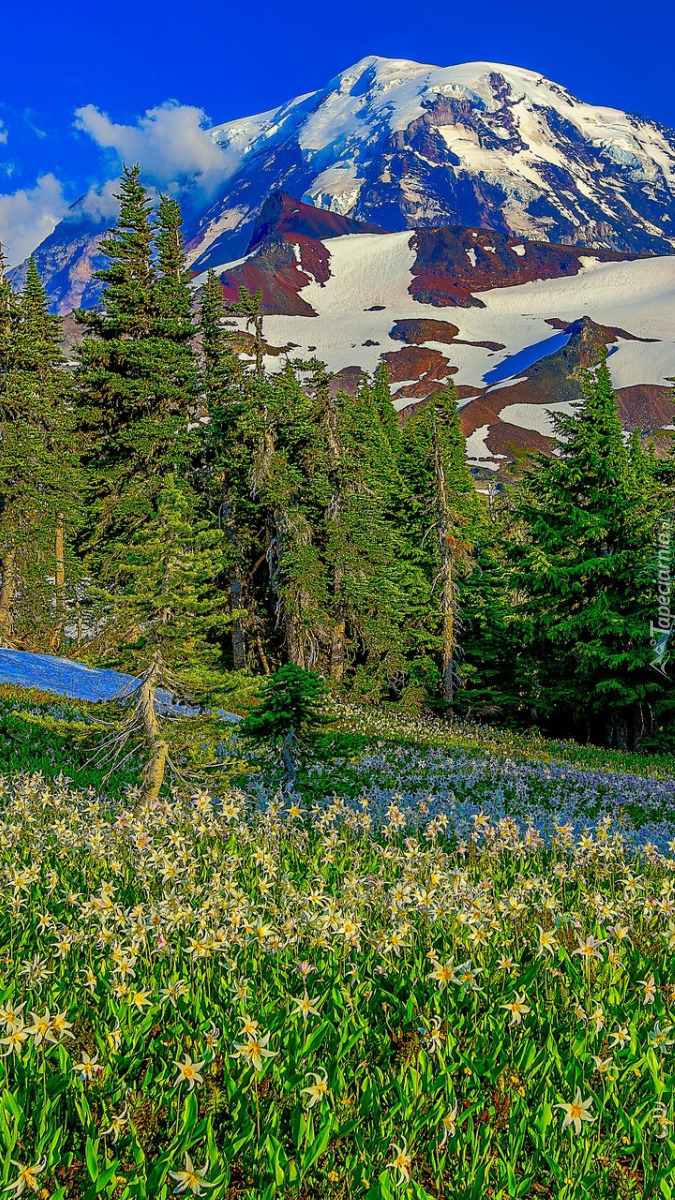
{"label": "foreground meadow of white star-shaped wildflowers among green leaves", "polygon": [[2,779],[2,1194],[673,1195],[670,776],[430,740]]}

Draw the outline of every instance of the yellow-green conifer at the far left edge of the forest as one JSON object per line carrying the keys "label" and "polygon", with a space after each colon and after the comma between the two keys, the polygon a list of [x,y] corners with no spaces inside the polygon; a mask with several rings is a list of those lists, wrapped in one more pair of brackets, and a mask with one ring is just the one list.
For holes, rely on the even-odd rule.
{"label": "yellow-green conifer at the far left edge of the forest", "polygon": [[4,294],[0,304],[0,630],[5,642],[54,649],[76,586],[80,479],[72,380],[61,324],[32,258],[18,301]]}

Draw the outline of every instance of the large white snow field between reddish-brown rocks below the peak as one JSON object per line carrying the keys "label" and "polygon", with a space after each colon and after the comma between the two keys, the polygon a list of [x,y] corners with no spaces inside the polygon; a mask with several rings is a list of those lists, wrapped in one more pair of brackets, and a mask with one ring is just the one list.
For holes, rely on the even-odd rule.
{"label": "large white snow field between reddish-brown rocks below the peak", "polygon": [[[446,320],[459,326],[458,338],[504,343],[506,349],[497,353],[456,342],[428,343],[458,367],[453,376],[456,384],[484,388],[490,370],[551,337],[548,319],[572,322],[587,316],[638,337],[659,340],[617,344],[609,359],[615,386],[663,385],[675,374],[675,256],[633,263],[586,258],[583,270],[568,278],[476,293],[484,308],[440,308],[418,304],[408,292],[416,257],[412,236],[404,230],[331,238],[327,244],[330,278],[325,284],[312,281],[300,293],[318,316],[267,317],[268,341],[274,346],[295,342],[299,349],[294,353],[299,355],[316,346],[312,353],[329,371],[360,366],[372,372],[381,354],[405,346],[389,337],[394,320]],[[370,312],[374,305],[382,305],[383,311]],[[365,341],[380,344],[363,346]],[[271,370],[282,366],[279,359],[268,362]]]}

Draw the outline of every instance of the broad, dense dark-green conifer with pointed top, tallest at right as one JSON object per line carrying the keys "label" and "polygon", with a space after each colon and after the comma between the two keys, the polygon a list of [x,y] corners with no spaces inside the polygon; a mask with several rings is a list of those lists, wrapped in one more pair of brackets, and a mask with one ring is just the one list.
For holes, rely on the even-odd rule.
{"label": "broad, dense dark-green conifer with pointed top, tallest at right", "polygon": [[558,456],[522,497],[522,554],[538,704],[573,733],[635,745],[659,692],[650,671],[655,523],[639,442],[623,445],[605,359],[583,378],[577,414],[558,419]]}

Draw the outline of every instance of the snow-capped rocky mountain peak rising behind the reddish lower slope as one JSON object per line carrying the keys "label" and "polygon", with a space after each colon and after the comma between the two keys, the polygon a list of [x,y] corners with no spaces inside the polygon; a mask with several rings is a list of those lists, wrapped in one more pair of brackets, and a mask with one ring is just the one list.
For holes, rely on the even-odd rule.
{"label": "snow-capped rocky mountain peak rising behind the reddish lower slope", "polygon": [[[369,56],[325,88],[210,131],[233,170],[186,221],[196,272],[245,253],[283,190],[389,232],[470,226],[634,253],[675,248],[675,132],[543,76]],[[55,305],[91,302],[97,232],[78,205],[37,252]]]}

